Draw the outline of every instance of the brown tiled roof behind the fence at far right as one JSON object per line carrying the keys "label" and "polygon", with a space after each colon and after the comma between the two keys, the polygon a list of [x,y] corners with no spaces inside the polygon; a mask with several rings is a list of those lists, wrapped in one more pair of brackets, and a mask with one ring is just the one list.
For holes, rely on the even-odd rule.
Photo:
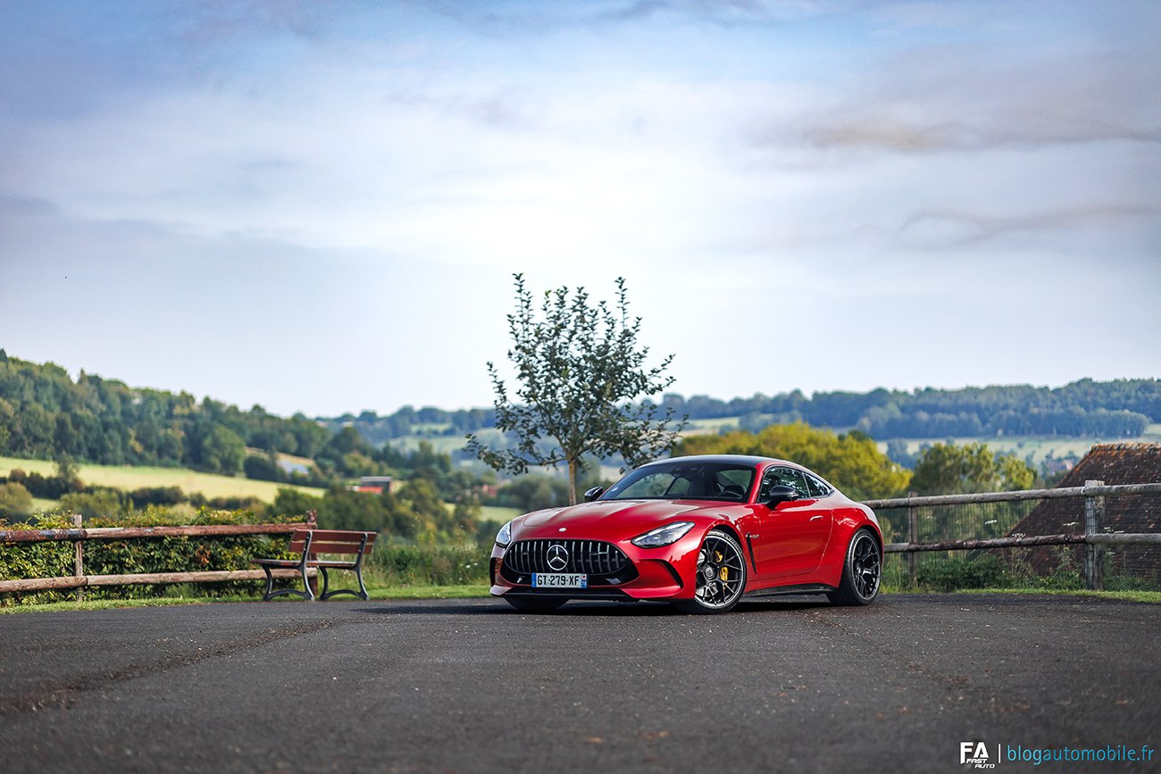
{"label": "brown tiled roof behind the fence at far right", "polygon": [[[1087,480],[1113,484],[1151,484],[1161,482],[1161,443],[1097,443],[1084,458],[1068,471],[1059,487],[1084,486]],[[1084,533],[1084,499],[1041,500],[1012,530],[1024,535],[1062,535]],[[1161,494],[1106,497],[1104,531],[1161,531]],[[1153,545],[1110,547],[1110,570],[1113,574],[1161,578],[1161,548]],[[1039,574],[1057,570],[1061,562],[1083,566],[1083,547],[1041,547],[1032,549],[1032,567]]]}

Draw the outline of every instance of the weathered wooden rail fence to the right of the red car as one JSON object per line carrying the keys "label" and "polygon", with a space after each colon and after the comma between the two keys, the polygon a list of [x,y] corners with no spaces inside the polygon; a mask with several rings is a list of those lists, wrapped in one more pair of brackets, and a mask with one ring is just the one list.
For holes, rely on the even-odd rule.
{"label": "weathered wooden rail fence to the right of the red car", "polygon": [[[887,554],[906,554],[908,572],[915,581],[915,555],[918,551],[969,551],[975,549],[1016,548],[1030,545],[1086,545],[1084,585],[1098,589],[1103,586],[1102,567],[1105,545],[1161,545],[1161,533],[1105,533],[1104,498],[1125,494],[1161,494],[1161,483],[1152,484],[1117,484],[1106,486],[1104,482],[1089,480],[1084,486],[1065,486],[1052,490],[1023,490],[1018,492],[982,492],[978,494],[936,494],[929,497],[906,497],[888,500],[864,500],[864,505],[875,509],[906,508],[907,536],[906,543],[887,543]],[[939,505],[971,505],[978,502],[1016,502],[1022,500],[1057,500],[1065,498],[1084,498],[1084,534],[1070,535],[1023,535],[1009,537],[991,537],[983,540],[940,541],[935,543],[917,542],[918,514],[916,508]]]}

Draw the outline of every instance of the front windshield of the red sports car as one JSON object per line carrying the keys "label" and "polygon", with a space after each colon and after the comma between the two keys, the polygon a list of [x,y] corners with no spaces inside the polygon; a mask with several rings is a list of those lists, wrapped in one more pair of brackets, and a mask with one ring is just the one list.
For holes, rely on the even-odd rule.
{"label": "front windshield of the red sports car", "polygon": [[639,468],[601,500],[727,500],[744,502],[753,468],[726,462],[672,462]]}

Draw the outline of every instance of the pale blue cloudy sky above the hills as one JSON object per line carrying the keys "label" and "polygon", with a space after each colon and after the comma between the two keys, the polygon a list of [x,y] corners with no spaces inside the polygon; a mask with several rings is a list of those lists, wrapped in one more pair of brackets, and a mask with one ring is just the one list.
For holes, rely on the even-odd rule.
{"label": "pale blue cloudy sky above the hills", "polygon": [[0,3],[0,347],[492,402],[512,274],[672,391],[1161,376],[1161,3]]}

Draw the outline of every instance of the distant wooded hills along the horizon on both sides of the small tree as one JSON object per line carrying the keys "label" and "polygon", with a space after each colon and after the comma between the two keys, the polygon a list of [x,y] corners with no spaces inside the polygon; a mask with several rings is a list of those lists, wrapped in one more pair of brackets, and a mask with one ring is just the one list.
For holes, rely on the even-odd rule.
{"label": "distant wooded hills along the horizon on both sides of the small tree", "polygon": [[[1135,437],[1161,421],[1161,381],[1083,379],[1050,390],[990,386],[964,390],[800,391],[719,400],[666,395],[663,403],[691,419],[740,418],[743,429],[806,421],[873,439],[987,435]],[[381,417],[366,411],[334,418],[277,417],[188,392],[130,388],[84,371],[73,381],[53,363],[9,357],[0,349],[0,455],[68,456],[79,462],[182,465],[253,478],[273,477],[274,453],[309,457],[322,475],[376,472],[384,443],[410,435],[463,435],[491,427],[488,408],[445,411],[404,406]],[[358,431],[354,435],[353,428]],[[369,442],[370,448],[363,448]],[[269,453],[254,455],[246,447]],[[370,464],[374,463],[374,464]],[[312,473],[316,475],[316,473]]]}

